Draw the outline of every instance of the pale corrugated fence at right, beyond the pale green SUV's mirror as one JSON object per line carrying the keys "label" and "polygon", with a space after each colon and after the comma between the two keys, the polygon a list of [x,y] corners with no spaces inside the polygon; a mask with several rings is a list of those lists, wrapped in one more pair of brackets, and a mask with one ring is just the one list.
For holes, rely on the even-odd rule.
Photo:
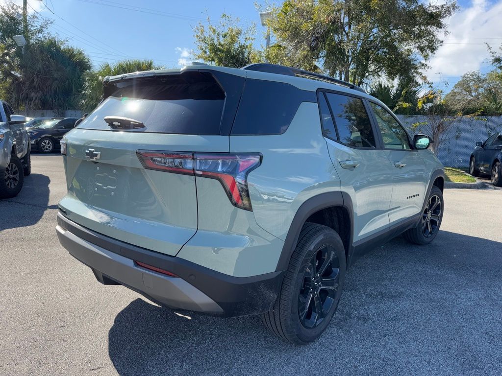
{"label": "pale corrugated fence at right, beyond the pale green SUV's mirror", "polygon": [[[420,125],[412,124],[427,122],[425,116],[398,115],[411,135],[420,133]],[[481,116],[476,118],[459,117],[446,135],[436,154],[445,166],[467,167],[472,150],[477,141],[484,141],[489,135],[502,131],[502,116]],[[427,132],[424,132],[427,133]]]}

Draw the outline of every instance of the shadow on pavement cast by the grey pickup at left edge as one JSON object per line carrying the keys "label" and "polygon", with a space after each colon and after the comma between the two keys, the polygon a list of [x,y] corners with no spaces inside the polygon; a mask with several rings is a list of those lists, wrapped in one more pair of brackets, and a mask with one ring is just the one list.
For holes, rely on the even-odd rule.
{"label": "shadow on pavement cast by the grey pickup at left edge", "polygon": [[23,189],[12,199],[0,200],[0,231],[35,225],[47,209],[57,209],[49,204],[51,179],[39,173],[25,176]]}

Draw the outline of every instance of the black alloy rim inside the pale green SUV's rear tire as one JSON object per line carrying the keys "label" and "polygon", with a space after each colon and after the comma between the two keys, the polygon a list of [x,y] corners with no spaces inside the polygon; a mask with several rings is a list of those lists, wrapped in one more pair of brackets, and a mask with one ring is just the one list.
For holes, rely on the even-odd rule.
{"label": "black alloy rim inside the pale green SUV's rear tire", "polygon": [[302,325],[314,328],[331,311],[336,299],[340,263],[335,249],[325,245],[317,250],[303,273],[298,296],[298,314]]}

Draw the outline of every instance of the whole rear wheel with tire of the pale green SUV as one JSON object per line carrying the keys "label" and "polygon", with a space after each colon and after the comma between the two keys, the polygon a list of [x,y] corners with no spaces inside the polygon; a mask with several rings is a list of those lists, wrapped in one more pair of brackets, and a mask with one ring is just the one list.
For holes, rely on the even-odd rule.
{"label": "whole rear wheel with tire of the pale green SUV", "polygon": [[340,236],[329,227],[306,223],[274,309],[262,314],[265,326],[294,344],[314,341],[336,311],[345,269],[345,250]]}

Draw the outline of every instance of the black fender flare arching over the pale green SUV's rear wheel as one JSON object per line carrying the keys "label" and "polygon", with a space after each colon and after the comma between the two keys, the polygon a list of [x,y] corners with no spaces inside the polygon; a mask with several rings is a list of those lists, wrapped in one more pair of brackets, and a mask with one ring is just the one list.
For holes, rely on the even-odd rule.
{"label": "black fender flare arching over the pale green SUV's rear wheel", "polygon": [[289,261],[293,252],[295,251],[298,237],[306,220],[315,212],[330,207],[343,207],[347,210],[350,218],[350,231],[349,231],[349,257],[350,249],[352,249],[353,229],[354,229],[354,210],[350,196],[341,191],[326,192],[311,197],[305,201],[300,208],[296,211],[295,217],[291,222],[286,240],[277,263],[276,271],[284,271],[288,269]]}

